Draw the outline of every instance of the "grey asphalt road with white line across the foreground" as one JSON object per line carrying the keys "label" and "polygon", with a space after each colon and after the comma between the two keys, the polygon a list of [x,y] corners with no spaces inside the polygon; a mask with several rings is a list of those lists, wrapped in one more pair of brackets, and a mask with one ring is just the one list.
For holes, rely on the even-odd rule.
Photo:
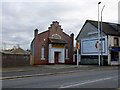
{"label": "grey asphalt road with white line across the foreground", "polygon": [[[3,80],[3,88],[118,88],[118,70],[82,72]],[[120,79],[119,79],[120,80]]]}

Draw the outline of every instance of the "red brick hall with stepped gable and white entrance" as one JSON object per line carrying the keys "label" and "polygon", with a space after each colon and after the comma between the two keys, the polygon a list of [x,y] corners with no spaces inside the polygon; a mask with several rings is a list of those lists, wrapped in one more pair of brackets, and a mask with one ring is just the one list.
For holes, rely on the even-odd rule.
{"label": "red brick hall with stepped gable and white entrance", "polygon": [[47,31],[38,34],[36,29],[31,42],[34,64],[72,64],[73,41],[74,34],[64,33],[57,21],[53,21]]}

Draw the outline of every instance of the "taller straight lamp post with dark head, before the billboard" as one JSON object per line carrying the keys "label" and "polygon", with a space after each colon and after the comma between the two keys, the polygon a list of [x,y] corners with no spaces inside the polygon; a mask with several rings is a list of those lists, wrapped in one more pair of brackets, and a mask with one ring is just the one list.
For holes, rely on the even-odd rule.
{"label": "taller straight lamp post with dark head, before the billboard", "polygon": [[99,22],[99,5],[101,2],[98,2],[98,61],[100,66],[100,22]]}

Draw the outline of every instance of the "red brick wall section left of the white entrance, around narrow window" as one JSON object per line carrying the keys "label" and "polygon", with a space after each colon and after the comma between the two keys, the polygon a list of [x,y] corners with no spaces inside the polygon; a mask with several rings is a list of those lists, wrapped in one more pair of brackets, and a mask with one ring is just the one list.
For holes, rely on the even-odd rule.
{"label": "red brick wall section left of the white entrance, around narrow window", "polygon": [[[45,49],[45,60],[41,60],[42,46],[44,46]],[[34,64],[47,64],[48,63],[48,32],[47,31],[36,35],[34,48],[35,48]]]}

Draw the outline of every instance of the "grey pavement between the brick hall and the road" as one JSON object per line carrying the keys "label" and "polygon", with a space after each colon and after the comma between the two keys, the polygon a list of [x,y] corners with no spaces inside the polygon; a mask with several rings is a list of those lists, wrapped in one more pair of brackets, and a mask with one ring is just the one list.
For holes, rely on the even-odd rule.
{"label": "grey pavement between the brick hall and the road", "polygon": [[117,66],[101,66],[98,65],[35,65],[24,67],[2,68],[2,77],[0,80],[26,78],[35,76],[45,76],[53,74],[65,74],[80,72],[86,70],[118,68]]}

